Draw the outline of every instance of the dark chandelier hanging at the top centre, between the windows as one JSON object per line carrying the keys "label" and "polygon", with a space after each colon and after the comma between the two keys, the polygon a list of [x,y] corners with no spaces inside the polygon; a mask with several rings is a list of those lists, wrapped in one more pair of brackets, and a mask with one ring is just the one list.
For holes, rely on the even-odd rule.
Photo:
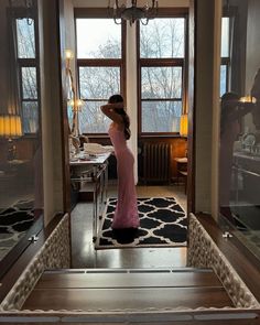
{"label": "dark chandelier hanging at the top centre, between the windows", "polygon": [[113,18],[116,24],[120,24],[119,20],[129,21],[130,26],[140,20],[143,25],[147,25],[150,19],[153,19],[158,14],[158,0],[152,0],[151,6],[147,2],[144,7],[137,7],[137,0],[127,0],[119,6],[118,0],[115,0],[113,7],[110,7],[110,0],[108,2],[108,11],[110,17]]}

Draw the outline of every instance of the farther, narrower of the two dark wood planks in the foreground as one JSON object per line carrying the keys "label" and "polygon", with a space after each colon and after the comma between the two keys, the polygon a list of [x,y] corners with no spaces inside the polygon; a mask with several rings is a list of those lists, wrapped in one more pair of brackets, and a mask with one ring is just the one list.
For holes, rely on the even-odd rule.
{"label": "farther, narrower of the two dark wood planks in the foreground", "polygon": [[223,286],[214,272],[174,273],[44,273],[35,289],[51,288],[186,288]]}

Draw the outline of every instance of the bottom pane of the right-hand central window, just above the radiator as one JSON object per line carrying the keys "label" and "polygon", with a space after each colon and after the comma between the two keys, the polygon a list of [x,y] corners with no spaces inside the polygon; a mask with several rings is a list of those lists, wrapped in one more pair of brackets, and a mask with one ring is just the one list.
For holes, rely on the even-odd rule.
{"label": "bottom pane of the right-hand central window, just above the radiator", "polygon": [[182,101],[142,101],[142,132],[178,132]]}

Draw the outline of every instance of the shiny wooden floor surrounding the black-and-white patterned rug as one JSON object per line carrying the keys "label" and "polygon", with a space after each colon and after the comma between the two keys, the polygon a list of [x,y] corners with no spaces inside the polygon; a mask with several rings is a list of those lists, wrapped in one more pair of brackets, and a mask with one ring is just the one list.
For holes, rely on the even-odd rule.
{"label": "shiny wooden floor surrounding the black-and-white patterned rug", "polygon": [[[139,197],[175,197],[186,210],[183,185],[137,186]],[[117,196],[109,184],[108,196]],[[124,248],[95,250],[91,230],[91,204],[78,203],[72,213],[72,267],[80,268],[176,268],[186,266],[186,248]]]}

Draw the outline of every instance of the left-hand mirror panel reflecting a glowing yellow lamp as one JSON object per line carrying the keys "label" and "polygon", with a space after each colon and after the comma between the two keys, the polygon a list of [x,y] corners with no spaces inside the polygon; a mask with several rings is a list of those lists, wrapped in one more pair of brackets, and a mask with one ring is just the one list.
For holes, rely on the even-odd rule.
{"label": "left-hand mirror panel reflecting a glowing yellow lamp", "polygon": [[1,1],[0,11],[1,278],[43,227],[43,174],[37,1]]}

